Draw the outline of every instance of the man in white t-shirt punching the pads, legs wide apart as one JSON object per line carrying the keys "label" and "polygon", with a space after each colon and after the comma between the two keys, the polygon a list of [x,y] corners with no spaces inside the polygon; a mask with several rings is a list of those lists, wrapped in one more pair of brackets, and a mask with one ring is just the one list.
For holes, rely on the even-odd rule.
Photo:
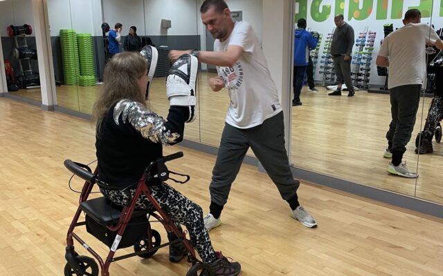
{"label": "man in white t-shirt punching the pads, legs wide apart", "polygon": [[289,167],[283,112],[260,41],[248,22],[234,23],[223,0],[204,1],[200,12],[201,20],[216,39],[215,51],[171,51],[170,58],[190,53],[201,62],[217,66],[219,77],[210,79],[210,87],[215,92],[226,87],[229,92],[230,105],[209,188],[211,204],[205,216],[206,228],[221,224],[221,210],[249,147],[288,202],[293,217],[304,226],[315,227],[315,219],[298,203],[300,182],[293,179]]}

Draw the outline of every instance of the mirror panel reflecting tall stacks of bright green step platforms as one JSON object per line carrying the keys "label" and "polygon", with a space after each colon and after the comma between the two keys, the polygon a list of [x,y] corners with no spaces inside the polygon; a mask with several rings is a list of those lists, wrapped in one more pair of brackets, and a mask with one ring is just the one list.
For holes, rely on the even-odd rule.
{"label": "mirror panel reflecting tall stacks of bright green step platforms", "polygon": [[101,17],[100,1],[48,1],[57,105],[62,108],[91,114],[104,64]]}

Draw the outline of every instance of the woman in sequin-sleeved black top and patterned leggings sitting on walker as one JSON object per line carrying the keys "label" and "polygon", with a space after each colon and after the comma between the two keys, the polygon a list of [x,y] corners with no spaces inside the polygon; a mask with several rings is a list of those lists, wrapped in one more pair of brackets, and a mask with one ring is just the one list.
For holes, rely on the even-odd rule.
{"label": "woman in sequin-sleeved black top and patterned leggings sitting on walker", "polygon": [[[137,52],[121,52],[107,63],[105,84],[98,93],[93,117],[97,122],[98,177],[110,186],[121,188],[100,190],[115,204],[128,204],[129,198],[135,192],[134,184],[138,182],[145,168],[150,162],[162,157],[163,145],[176,144],[183,139],[185,121],[192,121],[193,116],[193,107],[189,105],[195,103],[183,96],[183,90],[192,90],[192,83],[195,90],[197,60],[193,59],[196,58],[183,55],[170,70],[167,94],[174,105],[170,106],[167,120],[146,106],[146,59]],[[188,74],[177,70],[179,66],[183,68],[183,63],[188,63]],[[194,68],[191,68],[192,66]],[[186,75],[194,79],[183,79]],[[176,97],[177,94],[180,96]],[[188,97],[195,97],[194,91],[190,91]],[[213,249],[199,205],[160,181],[150,183],[150,189],[153,197],[159,201],[161,208],[168,213],[172,221],[188,228],[192,245],[202,261],[213,267],[215,275],[239,274],[238,262],[229,262]],[[145,195],[141,195],[136,208],[153,206]],[[179,262],[186,253],[183,249],[183,243],[170,246],[170,259]]]}

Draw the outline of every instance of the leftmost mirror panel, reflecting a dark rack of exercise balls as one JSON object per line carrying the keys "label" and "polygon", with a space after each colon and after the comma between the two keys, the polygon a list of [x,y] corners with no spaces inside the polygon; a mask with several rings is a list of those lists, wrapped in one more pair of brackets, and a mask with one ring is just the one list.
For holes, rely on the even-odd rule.
{"label": "leftmost mirror panel, reflecting a dark rack of exercise balls", "polygon": [[[0,1],[1,50],[11,95],[42,102],[30,0]],[[3,72],[2,72],[3,73]]]}

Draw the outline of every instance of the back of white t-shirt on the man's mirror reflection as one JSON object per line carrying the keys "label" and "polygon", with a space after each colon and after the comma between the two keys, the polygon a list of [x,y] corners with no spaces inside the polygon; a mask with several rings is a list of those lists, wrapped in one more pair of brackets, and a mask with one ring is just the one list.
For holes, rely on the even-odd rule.
{"label": "back of white t-shirt on the man's mirror reflection", "polygon": [[423,84],[426,43],[438,39],[435,30],[422,23],[408,23],[383,39],[379,56],[389,59],[388,88]]}

